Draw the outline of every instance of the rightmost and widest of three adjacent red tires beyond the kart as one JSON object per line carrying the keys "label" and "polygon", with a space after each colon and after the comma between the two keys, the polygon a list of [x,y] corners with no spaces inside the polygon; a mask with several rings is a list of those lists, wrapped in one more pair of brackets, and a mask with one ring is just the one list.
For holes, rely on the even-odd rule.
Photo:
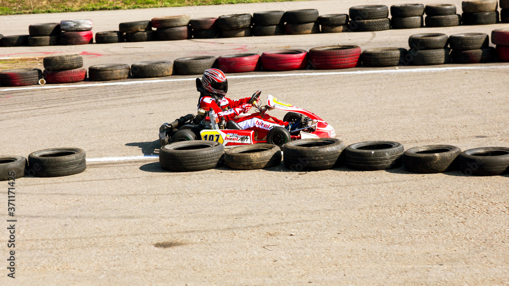
{"label": "rightmost and widest of three adjacent red tires beyond the kart", "polygon": [[317,70],[348,69],[360,65],[358,46],[324,46],[309,50],[309,65]]}

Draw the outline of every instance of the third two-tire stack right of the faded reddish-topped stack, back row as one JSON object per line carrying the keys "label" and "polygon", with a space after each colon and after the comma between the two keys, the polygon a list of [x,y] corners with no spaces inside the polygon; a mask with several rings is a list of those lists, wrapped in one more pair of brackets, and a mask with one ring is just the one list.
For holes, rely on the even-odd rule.
{"label": "third two-tire stack right of the faded reddish-topped stack, back row", "polygon": [[285,11],[253,13],[253,36],[276,36],[285,34]]}

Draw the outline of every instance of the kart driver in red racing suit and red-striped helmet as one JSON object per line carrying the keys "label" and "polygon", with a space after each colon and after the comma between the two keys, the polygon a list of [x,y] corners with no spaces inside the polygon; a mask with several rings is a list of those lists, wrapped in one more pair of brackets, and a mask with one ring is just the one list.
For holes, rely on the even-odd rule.
{"label": "kart driver in red racing suit and red-striped helmet", "polygon": [[[198,108],[205,110],[213,109],[218,117],[223,117],[226,121],[234,120],[244,130],[256,131],[258,138],[264,138],[274,126],[286,128],[288,131],[298,129],[299,122],[290,124],[289,122],[279,120],[269,115],[265,115],[265,117],[262,118],[258,113],[235,118],[241,113],[249,112],[252,105],[247,102],[249,102],[251,98],[243,98],[238,101],[226,98],[228,80],[221,70],[205,70],[202,77],[202,87],[204,90],[199,88],[200,99]],[[257,103],[260,104],[260,99],[258,99]]]}

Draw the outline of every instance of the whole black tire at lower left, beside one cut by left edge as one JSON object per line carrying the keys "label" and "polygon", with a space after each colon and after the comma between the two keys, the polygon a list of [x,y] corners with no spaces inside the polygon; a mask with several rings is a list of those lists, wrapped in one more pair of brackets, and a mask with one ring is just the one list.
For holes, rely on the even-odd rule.
{"label": "whole black tire at lower left, beside one cut by left edge", "polygon": [[51,148],[29,155],[29,168],[36,177],[62,177],[87,169],[86,154],[79,148]]}

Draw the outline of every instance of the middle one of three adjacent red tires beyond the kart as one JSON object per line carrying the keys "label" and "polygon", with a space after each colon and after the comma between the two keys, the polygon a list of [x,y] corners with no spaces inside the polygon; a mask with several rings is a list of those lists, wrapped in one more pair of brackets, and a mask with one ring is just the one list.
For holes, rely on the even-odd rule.
{"label": "middle one of three adjacent red tires beyond the kart", "polygon": [[307,65],[307,52],[304,50],[268,51],[264,52],[260,59],[262,68],[267,71],[300,70]]}

